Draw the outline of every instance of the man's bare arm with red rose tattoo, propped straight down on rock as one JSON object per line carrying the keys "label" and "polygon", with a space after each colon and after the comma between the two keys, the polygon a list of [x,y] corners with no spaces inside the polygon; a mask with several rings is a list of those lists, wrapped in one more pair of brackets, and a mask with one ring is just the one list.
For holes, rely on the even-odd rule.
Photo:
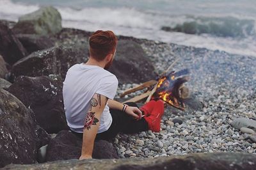
{"label": "man's bare arm with red rose tattoo, propped straight down on rock", "polygon": [[93,145],[100,125],[100,116],[105,108],[108,98],[95,93],[90,101],[90,109],[84,121],[83,146],[80,160],[92,158]]}

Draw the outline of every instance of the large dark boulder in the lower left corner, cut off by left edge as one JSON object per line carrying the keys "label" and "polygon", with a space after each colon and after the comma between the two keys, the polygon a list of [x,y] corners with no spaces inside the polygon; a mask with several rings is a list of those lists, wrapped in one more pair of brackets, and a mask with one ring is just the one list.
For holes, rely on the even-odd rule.
{"label": "large dark boulder in the lower left corner, cut off by left edge", "polygon": [[22,102],[0,89],[0,167],[36,163],[35,115]]}

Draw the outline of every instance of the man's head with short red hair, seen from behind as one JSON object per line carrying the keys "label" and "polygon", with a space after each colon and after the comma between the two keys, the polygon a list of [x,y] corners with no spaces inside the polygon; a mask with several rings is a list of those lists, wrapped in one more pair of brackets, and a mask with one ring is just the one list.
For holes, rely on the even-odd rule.
{"label": "man's head with short red hair, seen from behind", "polygon": [[90,57],[102,61],[108,54],[114,54],[117,38],[112,31],[98,30],[90,37]]}

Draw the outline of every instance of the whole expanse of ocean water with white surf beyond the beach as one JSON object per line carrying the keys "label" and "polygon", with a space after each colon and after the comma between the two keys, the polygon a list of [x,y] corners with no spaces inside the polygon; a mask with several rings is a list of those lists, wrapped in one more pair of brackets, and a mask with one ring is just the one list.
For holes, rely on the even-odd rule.
{"label": "whole expanse of ocean water with white surf beyond the beach", "polygon": [[0,19],[47,5],[63,27],[256,56],[255,0],[0,0]]}

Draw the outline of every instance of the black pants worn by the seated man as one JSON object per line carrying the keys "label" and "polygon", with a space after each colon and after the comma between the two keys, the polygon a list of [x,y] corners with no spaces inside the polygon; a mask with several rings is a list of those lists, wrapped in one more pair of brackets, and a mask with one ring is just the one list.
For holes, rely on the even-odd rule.
{"label": "black pants worn by the seated man", "polygon": [[[138,107],[133,102],[126,103],[129,106]],[[145,121],[144,118],[141,118],[141,120],[134,120],[131,116],[129,116],[127,113],[118,111],[115,109],[109,109],[109,112],[112,116],[112,123],[108,130],[105,132],[99,133],[96,135],[96,140],[100,139],[112,139],[114,138],[119,132],[123,132],[125,134],[134,134],[137,132],[148,130],[148,123]],[[83,134],[73,132],[79,136],[81,139],[83,139]]]}

